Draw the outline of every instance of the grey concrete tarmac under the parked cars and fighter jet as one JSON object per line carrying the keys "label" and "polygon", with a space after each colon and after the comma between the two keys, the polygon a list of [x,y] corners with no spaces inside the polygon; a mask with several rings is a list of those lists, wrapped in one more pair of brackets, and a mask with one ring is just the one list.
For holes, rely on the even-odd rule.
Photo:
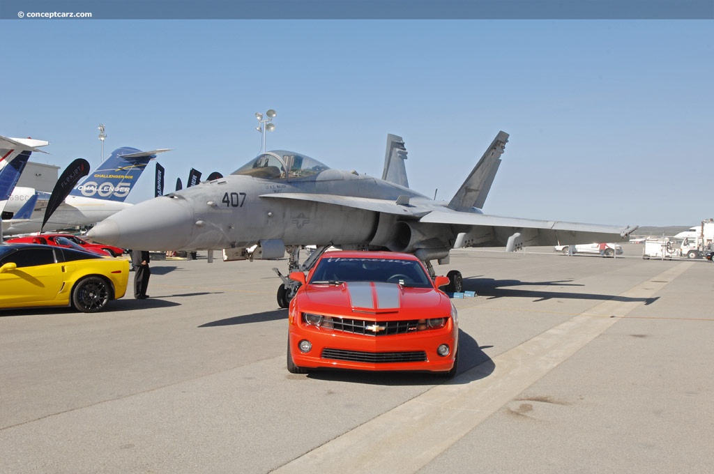
{"label": "grey concrete tarmac under the parked cars and fighter jet", "polygon": [[[285,368],[287,261],[154,261],[148,300],[0,312],[2,473],[708,473],[714,266],[452,252],[460,369]],[[199,256],[201,254],[199,253]]]}

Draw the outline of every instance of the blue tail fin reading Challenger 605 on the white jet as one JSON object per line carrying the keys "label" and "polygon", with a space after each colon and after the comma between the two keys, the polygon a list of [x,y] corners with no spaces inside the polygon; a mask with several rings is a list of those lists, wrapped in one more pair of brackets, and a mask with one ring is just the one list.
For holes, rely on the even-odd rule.
{"label": "blue tail fin reading Challenger 605 on the white jet", "polygon": [[122,202],[134,188],[139,176],[156,153],[169,151],[161,148],[153,151],[141,151],[124,146],[111,152],[109,158],[99,168],[89,173],[84,181],[70,191],[70,196],[106,199]]}

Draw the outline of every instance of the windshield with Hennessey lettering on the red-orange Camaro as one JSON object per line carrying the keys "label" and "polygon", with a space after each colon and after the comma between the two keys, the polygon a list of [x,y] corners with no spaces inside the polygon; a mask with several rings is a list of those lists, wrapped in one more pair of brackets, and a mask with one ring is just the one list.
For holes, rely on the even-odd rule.
{"label": "windshield with Hennessey lettering on the red-orange Camaro", "polygon": [[346,281],[378,281],[431,288],[431,280],[420,263],[396,258],[323,258],[309,283],[335,284]]}

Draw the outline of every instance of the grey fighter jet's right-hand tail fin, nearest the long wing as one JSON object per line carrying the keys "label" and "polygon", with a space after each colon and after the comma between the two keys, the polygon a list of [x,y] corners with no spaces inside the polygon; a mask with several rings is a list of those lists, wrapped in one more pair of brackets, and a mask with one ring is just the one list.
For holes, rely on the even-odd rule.
{"label": "grey fighter jet's right-hand tail fin, nearest the long wing", "polygon": [[501,165],[501,155],[507,142],[508,133],[499,131],[461,188],[458,188],[451,202],[448,203],[448,207],[454,211],[468,211],[473,207],[483,207],[488,191],[491,191],[493,178],[496,178],[498,166]]}

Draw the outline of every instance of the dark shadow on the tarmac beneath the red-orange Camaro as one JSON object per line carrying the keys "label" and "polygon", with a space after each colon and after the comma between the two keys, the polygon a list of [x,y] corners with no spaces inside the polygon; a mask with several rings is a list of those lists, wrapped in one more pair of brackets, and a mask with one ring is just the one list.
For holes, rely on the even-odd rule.
{"label": "dark shadow on the tarmac beneath the red-orange Camaro", "polygon": [[[484,347],[485,348],[485,347]],[[316,380],[334,380],[346,383],[363,383],[367,385],[438,385],[448,383],[469,383],[473,380],[486,378],[496,368],[493,360],[481,351],[476,340],[467,333],[458,331],[458,372],[456,378],[447,380],[435,373],[422,372],[369,372],[361,370],[311,370],[308,378]],[[468,373],[474,367],[478,371]],[[468,374],[467,374],[468,373]]]}

